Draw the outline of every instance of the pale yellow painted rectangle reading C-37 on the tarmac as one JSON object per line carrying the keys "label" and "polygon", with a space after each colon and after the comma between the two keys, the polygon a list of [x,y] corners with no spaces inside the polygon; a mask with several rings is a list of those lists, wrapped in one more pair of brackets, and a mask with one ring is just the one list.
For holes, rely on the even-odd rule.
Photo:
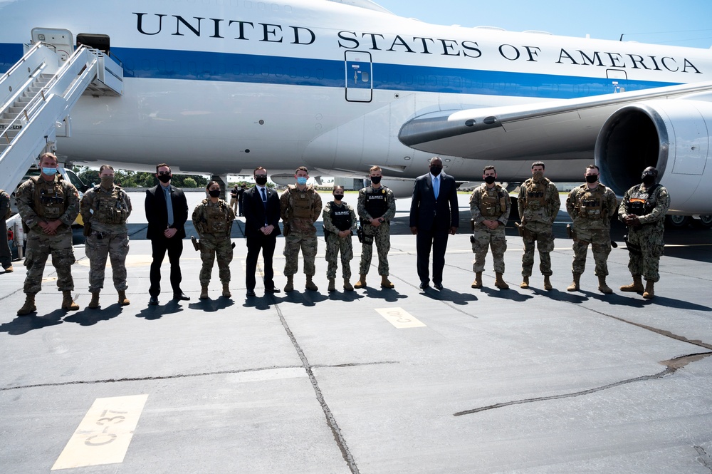
{"label": "pale yellow painted rectangle reading C-37 on the tarmac", "polygon": [[122,463],[147,398],[97,398],[51,470]]}

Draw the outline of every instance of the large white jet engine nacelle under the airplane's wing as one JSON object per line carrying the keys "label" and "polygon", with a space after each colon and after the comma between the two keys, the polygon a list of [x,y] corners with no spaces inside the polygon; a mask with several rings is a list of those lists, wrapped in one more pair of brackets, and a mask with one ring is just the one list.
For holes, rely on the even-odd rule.
{"label": "large white jet engine nacelle under the airplane's wing", "polygon": [[622,196],[642,171],[657,168],[670,192],[671,212],[712,214],[712,103],[646,101],[626,105],[606,121],[596,140],[601,182]]}

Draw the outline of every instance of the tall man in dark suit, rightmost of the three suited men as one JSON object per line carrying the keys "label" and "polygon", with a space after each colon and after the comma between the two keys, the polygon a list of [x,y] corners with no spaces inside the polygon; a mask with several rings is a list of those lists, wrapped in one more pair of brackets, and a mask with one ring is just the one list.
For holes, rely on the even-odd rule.
{"label": "tall man in dark suit, rightmost of the three suited men", "polygon": [[430,159],[430,172],[415,180],[410,205],[410,231],[417,235],[418,277],[420,288],[430,283],[430,249],[433,249],[433,284],[443,287],[443,268],[448,234],[455,235],[460,222],[457,186],[452,176],[442,172],[439,157]]}

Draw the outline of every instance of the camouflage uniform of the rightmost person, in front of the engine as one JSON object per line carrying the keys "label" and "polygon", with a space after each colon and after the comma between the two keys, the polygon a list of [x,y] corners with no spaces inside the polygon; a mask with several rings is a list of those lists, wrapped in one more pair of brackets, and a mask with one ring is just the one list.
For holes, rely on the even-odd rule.
{"label": "camouflage uniform of the rightmost person, in front of the engine", "polygon": [[658,282],[660,256],[665,247],[665,214],[670,207],[670,195],[661,185],[651,188],[652,192],[645,185],[635,185],[627,190],[618,210],[618,218],[625,223],[627,215],[635,214],[640,221],[640,226],[628,227],[626,244],[630,254],[630,273]]}

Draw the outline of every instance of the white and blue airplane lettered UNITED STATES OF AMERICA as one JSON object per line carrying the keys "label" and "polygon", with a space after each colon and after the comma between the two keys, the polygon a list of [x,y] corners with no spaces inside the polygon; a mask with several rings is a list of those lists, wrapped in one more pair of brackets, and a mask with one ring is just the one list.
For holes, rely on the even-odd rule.
{"label": "white and blue airplane lettered UNITED STATES OF AMERICA", "polygon": [[[710,50],[439,26],[369,0],[4,0],[0,26],[2,110],[25,86],[2,87],[23,54],[51,48],[58,76],[107,65],[26,140],[66,164],[216,177],[263,166],[276,182],[298,165],[352,177],[379,165],[409,194],[433,155],[459,181],[494,164],[522,182],[543,160],[551,180],[579,182],[595,162],[619,197],[651,165],[673,222],[712,227]],[[31,117],[13,120],[0,147],[31,135]],[[0,185],[37,156],[0,153]]]}

